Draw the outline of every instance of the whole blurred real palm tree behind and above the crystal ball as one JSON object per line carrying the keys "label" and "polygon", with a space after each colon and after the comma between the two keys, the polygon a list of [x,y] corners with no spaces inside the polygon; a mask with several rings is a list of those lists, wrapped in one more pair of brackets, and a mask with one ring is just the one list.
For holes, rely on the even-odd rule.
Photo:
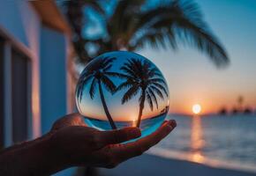
{"label": "whole blurred real palm tree behind and above the crystal ball", "polygon": [[[106,1],[101,1],[101,4],[99,1],[93,2],[92,6],[97,12],[87,14],[87,16],[93,15],[97,21],[87,22],[87,26],[100,23],[97,31],[103,32],[94,34],[94,37],[85,31],[83,35],[79,34],[84,28],[83,23],[73,24],[78,19],[81,21],[81,16],[86,16],[81,12],[82,7],[86,5],[69,6],[76,14],[69,15],[69,18],[74,26],[74,32],[78,33],[74,44],[80,62],[86,63],[95,55],[111,50],[136,51],[145,48],[147,44],[152,48],[176,49],[182,42],[206,53],[217,66],[226,65],[229,62],[222,44],[204,21],[200,8],[190,0],[169,0],[165,3],[160,1],[156,2],[154,7],[151,5],[150,8],[147,0],[122,0],[117,1],[110,14],[104,12],[102,7],[108,4],[113,6],[114,1],[107,4]],[[94,52],[85,46],[93,46]]]}

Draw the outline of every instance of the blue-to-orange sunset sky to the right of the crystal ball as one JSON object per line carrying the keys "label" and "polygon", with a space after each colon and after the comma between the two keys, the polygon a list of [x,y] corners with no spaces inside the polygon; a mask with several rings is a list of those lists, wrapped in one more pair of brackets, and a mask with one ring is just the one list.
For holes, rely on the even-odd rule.
{"label": "blue-to-orange sunset sky to the right of the crystal ball", "polygon": [[196,0],[210,29],[230,56],[230,65],[217,69],[195,48],[143,49],[138,53],[158,66],[169,84],[169,113],[192,114],[200,104],[202,114],[216,113],[222,106],[256,107],[256,1]]}

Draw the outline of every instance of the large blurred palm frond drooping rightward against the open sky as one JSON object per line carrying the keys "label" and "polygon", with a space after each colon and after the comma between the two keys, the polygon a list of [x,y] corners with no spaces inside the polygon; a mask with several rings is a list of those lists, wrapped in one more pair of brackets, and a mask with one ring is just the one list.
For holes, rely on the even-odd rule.
{"label": "large blurred palm frond drooping rightward against the open sky", "polygon": [[177,48],[179,39],[206,53],[217,66],[229,63],[225,49],[208,29],[197,4],[173,1],[154,10],[142,12],[139,19],[137,30],[144,33],[141,32],[139,39],[133,39],[133,48],[145,47],[148,41],[153,48],[165,48],[166,40],[172,48]]}

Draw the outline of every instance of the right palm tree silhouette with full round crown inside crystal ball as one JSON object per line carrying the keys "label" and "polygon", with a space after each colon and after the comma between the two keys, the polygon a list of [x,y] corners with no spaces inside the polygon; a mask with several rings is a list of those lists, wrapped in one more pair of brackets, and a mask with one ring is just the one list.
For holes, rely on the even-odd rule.
{"label": "right palm tree silhouette with full round crown inside crystal ball", "polygon": [[155,68],[152,63],[147,61],[132,58],[124,63],[121,70],[125,73],[122,74],[121,77],[126,80],[124,83],[117,86],[117,91],[123,90],[124,88],[128,89],[127,92],[124,93],[122,104],[132,99],[138,93],[140,94],[139,116],[137,121],[137,127],[139,127],[145,100],[147,99],[151,111],[154,109],[154,104],[156,108],[158,108],[156,94],[161,99],[164,99],[163,94],[168,97],[167,85],[159,70]]}

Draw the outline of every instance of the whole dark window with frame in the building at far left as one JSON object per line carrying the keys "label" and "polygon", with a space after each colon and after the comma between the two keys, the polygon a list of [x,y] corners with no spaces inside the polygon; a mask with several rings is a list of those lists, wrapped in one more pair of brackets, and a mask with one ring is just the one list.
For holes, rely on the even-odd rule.
{"label": "whole dark window with frame in the building at far left", "polygon": [[31,125],[30,59],[0,37],[0,149],[29,138]]}

